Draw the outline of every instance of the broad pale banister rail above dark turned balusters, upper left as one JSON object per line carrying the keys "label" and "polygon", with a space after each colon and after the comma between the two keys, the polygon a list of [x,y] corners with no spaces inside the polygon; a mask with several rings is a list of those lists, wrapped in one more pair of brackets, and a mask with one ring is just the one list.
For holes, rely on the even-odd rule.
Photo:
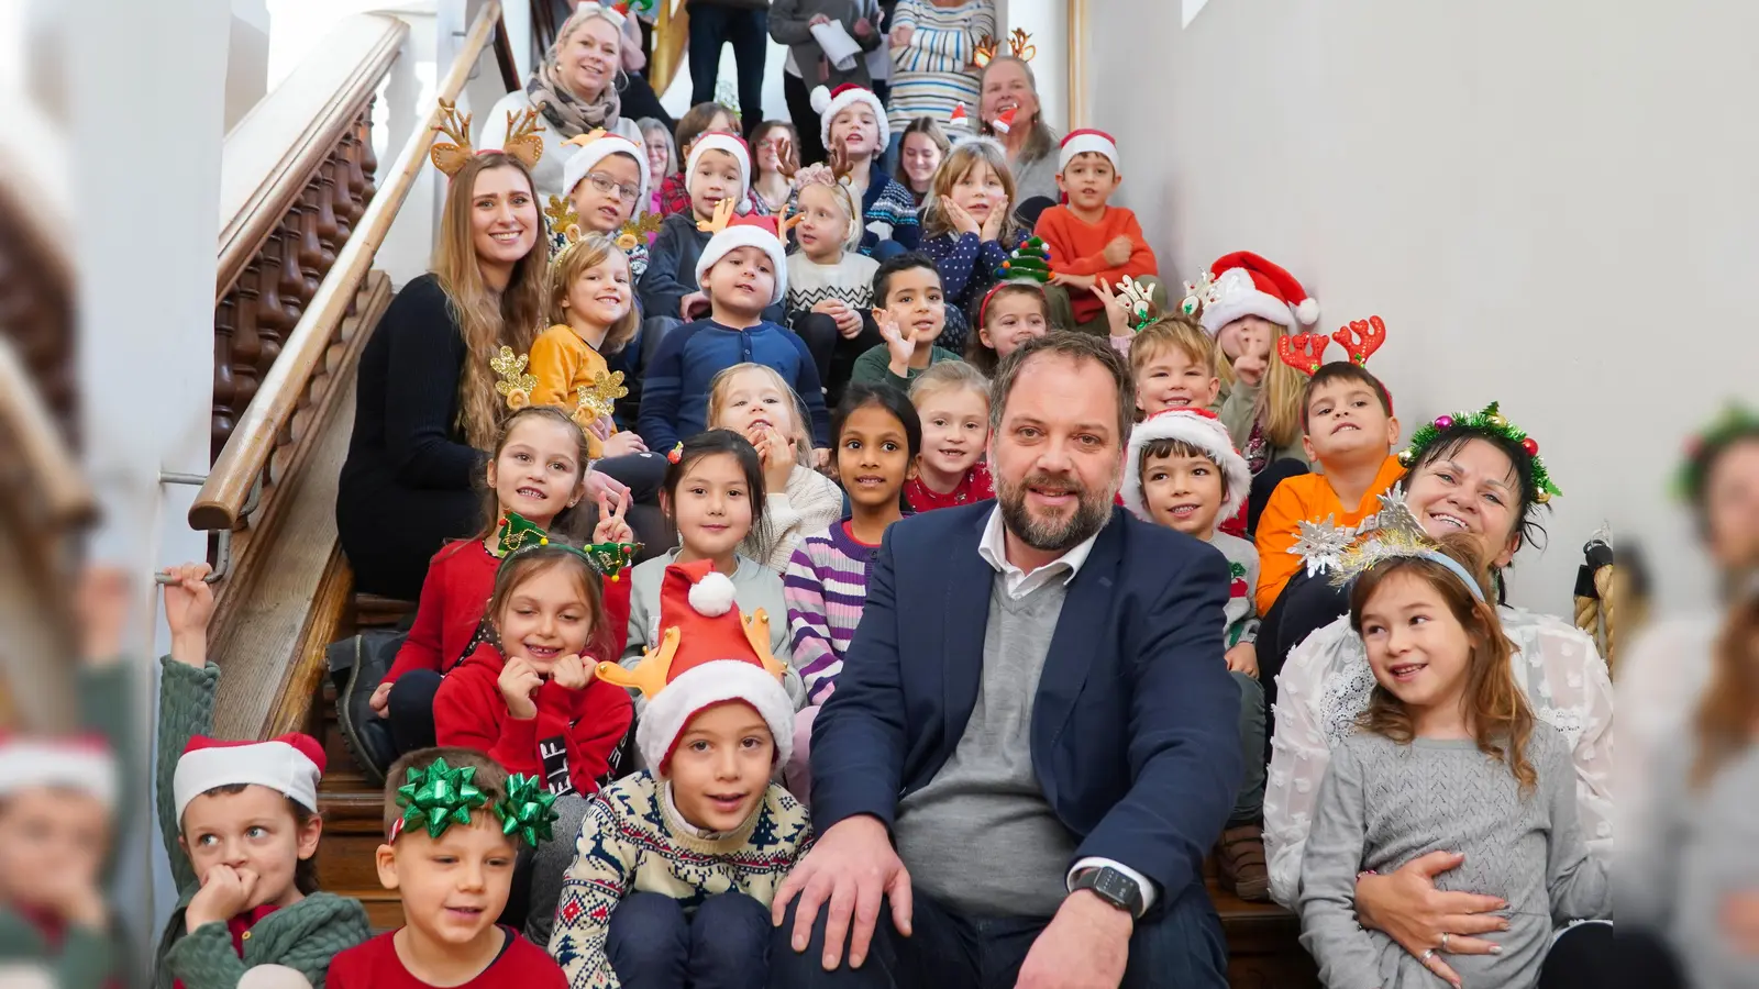
{"label": "broad pale banister rail above dark turned balusters, upper left", "polygon": [[311,172],[373,99],[408,33],[406,23],[387,14],[343,19],[311,58],[225,136],[215,301],[232,289]]}

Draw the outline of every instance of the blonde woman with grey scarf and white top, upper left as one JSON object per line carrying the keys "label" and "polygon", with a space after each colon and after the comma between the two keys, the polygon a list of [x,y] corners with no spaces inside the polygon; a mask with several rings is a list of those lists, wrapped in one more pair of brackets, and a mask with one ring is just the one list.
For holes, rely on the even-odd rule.
{"label": "blonde woman with grey scarf and white top, upper left", "polygon": [[598,4],[580,4],[556,32],[556,44],[533,69],[524,90],[501,97],[494,109],[480,120],[480,148],[500,148],[507,141],[507,114],[538,107],[538,125],[544,127],[544,157],[531,169],[538,202],[551,195],[568,197],[561,187],[561,164],[575,148],[565,146],[570,137],[609,130],[621,134],[642,148],[642,128],[623,116],[617,95],[617,72],[623,69],[623,49],[635,44],[628,30],[633,21]]}

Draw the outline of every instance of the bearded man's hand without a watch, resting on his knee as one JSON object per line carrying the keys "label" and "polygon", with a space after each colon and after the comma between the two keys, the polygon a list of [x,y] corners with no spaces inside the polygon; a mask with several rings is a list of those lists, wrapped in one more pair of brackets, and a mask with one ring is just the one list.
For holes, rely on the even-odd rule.
{"label": "bearded man's hand without a watch, resting on his knee", "polygon": [[[813,940],[813,922],[818,908],[828,905],[825,915],[825,971],[843,963],[843,941],[850,941],[850,968],[867,961],[867,947],[880,920],[880,899],[892,903],[892,926],[909,936],[911,892],[909,869],[892,848],[885,825],[874,817],[839,820],[825,831],[813,850],[795,864],[788,878],[776,889],[770,905],[770,922],[781,927],[788,917],[788,901],[800,897],[793,917],[795,952],[804,952]],[[853,926],[850,924],[853,920]]]}

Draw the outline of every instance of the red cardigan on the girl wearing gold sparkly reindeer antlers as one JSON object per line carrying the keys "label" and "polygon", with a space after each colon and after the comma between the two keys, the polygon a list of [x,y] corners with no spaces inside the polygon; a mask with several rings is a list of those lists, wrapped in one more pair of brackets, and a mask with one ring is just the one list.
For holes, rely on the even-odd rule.
{"label": "red cardigan on the girl wearing gold sparkly reindeer antlers", "polygon": [[[477,648],[477,628],[494,593],[494,572],[501,560],[480,538],[454,542],[427,563],[422,600],[415,609],[410,637],[398,649],[382,683],[394,683],[410,670],[449,672]],[[630,637],[630,579],[605,581],[605,616],[616,637],[616,651]]]}

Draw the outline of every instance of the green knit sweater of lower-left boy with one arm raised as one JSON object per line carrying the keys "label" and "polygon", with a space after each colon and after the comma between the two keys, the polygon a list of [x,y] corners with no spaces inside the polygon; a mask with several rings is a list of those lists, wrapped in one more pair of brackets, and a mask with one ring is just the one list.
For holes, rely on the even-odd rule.
{"label": "green knit sweater of lower-left boy with one arm raised", "polygon": [[165,836],[171,875],[181,896],[158,941],[153,985],[171,989],[171,984],[181,978],[185,989],[234,989],[253,966],[285,964],[310,978],[313,989],[322,989],[331,959],[373,936],[366,910],[357,899],[315,892],[269,913],[250,929],[245,957],[232,949],[232,933],[218,920],[202,924],[192,934],[185,933],[183,912],[201,890],[201,882],[178,845],[181,824],[171,781],[178,771],[178,757],[183,755],[190,737],[213,732],[220,667],[208,663],[206,669],[195,670],[171,656],[160,660],[160,665],[164,674],[158,686],[158,827]]}

